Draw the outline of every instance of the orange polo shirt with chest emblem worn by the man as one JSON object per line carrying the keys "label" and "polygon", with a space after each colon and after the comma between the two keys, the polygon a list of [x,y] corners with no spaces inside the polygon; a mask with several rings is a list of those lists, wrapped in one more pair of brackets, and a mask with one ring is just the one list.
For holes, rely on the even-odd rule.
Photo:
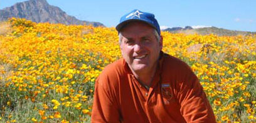
{"label": "orange polo shirt with chest emblem worn by the man", "polygon": [[183,61],[163,54],[147,90],[124,59],[97,78],[91,122],[216,122],[198,78]]}

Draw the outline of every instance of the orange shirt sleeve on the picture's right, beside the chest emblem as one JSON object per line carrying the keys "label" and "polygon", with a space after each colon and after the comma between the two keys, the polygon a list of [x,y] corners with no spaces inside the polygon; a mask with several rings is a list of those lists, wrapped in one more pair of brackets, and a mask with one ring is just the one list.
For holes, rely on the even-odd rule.
{"label": "orange shirt sleeve on the picture's right, beside the chest emblem", "polygon": [[[185,72],[185,71],[184,71]],[[186,69],[180,81],[178,100],[186,122],[216,122],[211,105],[196,75]]]}

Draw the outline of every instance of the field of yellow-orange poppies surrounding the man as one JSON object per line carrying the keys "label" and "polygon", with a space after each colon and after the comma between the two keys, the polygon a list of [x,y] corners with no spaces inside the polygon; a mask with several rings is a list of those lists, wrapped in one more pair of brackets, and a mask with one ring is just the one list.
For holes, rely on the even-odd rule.
{"label": "field of yellow-orange poppies surrounding the man", "polygon": [[[6,24],[0,122],[90,122],[95,79],[121,57],[114,27]],[[200,78],[218,122],[256,122],[256,36],[162,35],[163,51]]]}

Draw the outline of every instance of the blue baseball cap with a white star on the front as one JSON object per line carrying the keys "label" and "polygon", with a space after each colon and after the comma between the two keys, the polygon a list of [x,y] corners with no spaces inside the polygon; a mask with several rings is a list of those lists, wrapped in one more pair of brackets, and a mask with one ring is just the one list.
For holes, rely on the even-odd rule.
{"label": "blue baseball cap with a white star on the front", "polygon": [[149,12],[142,12],[138,9],[134,9],[133,11],[122,16],[119,24],[115,27],[115,29],[120,32],[120,29],[122,29],[122,27],[133,21],[146,22],[150,26],[154,27],[159,35],[161,34],[160,26],[155,19],[154,14],[151,14]]}

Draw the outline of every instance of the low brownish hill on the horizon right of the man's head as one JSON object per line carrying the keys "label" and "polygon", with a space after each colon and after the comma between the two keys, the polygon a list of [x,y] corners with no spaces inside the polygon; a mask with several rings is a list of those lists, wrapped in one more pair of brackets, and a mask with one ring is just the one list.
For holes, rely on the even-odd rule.
{"label": "low brownish hill on the horizon right of the man's head", "polygon": [[237,36],[237,35],[243,35],[247,36],[250,34],[256,34],[256,32],[248,32],[248,31],[232,31],[228,29],[222,29],[218,27],[201,27],[201,28],[193,28],[191,26],[186,27],[172,27],[164,29],[163,31],[169,31],[172,33],[184,33],[184,34],[201,34],[201,35],[207,35],[207,34],[216,34],[217,36]]}

